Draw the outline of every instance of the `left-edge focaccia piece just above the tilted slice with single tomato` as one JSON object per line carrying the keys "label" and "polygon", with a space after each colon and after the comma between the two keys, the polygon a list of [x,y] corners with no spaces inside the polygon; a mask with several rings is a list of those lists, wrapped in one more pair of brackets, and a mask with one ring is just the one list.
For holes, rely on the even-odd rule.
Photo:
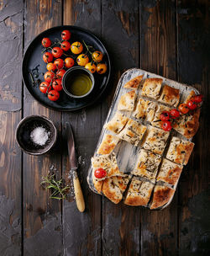
{"label": "left-edge focaccia piece just above the tilted slice with single tomato", "polygon": [[97,154],[108,155],[113,152],[114,147],[117,146],[119,138],[110,134],[105,134],[101,145],[98,147]]}

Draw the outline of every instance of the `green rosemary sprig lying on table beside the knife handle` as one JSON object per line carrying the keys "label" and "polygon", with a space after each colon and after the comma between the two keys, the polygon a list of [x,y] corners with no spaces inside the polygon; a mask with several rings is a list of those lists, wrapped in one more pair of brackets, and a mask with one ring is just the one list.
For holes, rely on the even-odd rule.
{"label": "green rosemary sprig lying on table beside the knife handle", "polygon": [[55,180],[55,173],[49,173],[47,176],[42,177],[40,185],[44,186],[45,189],[51,189],[50,198],[57,200],[66,199],[67,192],[70,189],[69,185],[65,185],[63,179]]}

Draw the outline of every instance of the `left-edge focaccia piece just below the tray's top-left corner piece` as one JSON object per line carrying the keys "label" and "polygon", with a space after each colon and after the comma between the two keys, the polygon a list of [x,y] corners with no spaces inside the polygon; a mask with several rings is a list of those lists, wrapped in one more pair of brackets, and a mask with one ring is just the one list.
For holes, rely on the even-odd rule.
{"label": "left-edge focaccia piece just below the tray's top-left corner piece", "polygon": [[121,96],[118,103],[118,110],[133,111],[136,99],[136,93],[134,90],[129,93],[125,93]]}

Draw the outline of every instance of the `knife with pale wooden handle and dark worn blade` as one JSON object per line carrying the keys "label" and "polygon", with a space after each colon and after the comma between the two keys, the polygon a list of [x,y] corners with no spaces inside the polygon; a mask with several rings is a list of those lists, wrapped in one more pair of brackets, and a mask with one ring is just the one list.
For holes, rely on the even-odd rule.
{"label": "knife with pale wooden handle and dark worn blade", "polygon": [[78,163],[76,161],[74,136],[71,129],[71,125],[69,123],[66,123],[66,128],[67,128],[67,143],[68,143],[68,152],[69,152],[70,172],[72,172],[72,176],[73,176],[76,206],[79,211],[83,212],[85,211],[85,201],[81,191],[81,184],[76,172],[78,168]]}

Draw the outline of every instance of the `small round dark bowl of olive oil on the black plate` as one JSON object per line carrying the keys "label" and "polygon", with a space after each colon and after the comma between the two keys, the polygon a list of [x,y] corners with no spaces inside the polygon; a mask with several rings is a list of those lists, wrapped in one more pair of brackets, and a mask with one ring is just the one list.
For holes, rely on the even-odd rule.
{"label": "small round dark bowl of olive oil on the black plate", "polygon": [[72,98],[84,98],[92,92],[94,77],[85,67],[71,67],[62,78],[63,89]]}

